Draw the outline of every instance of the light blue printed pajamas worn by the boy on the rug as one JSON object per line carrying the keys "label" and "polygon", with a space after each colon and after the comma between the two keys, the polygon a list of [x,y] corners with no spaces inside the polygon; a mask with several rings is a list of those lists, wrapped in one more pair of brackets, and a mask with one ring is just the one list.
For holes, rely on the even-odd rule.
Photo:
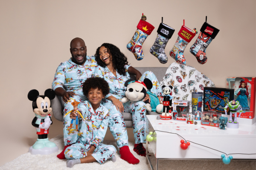
{"label": "light blue printed pajamas worn by the boy on the rug", "polygon": [[116,154],[114,146],[102,144],[108,129],[110,113],[102,104],[94,112],[89,101],[80,103],[78,111],[85,121],[80,120],[79,139],[75,144],[66,148],[65,157],[67,159],[85,158],[91,145],[94,145],[96,149],[93,151],[92,156],[100,164],[103,164]]}

